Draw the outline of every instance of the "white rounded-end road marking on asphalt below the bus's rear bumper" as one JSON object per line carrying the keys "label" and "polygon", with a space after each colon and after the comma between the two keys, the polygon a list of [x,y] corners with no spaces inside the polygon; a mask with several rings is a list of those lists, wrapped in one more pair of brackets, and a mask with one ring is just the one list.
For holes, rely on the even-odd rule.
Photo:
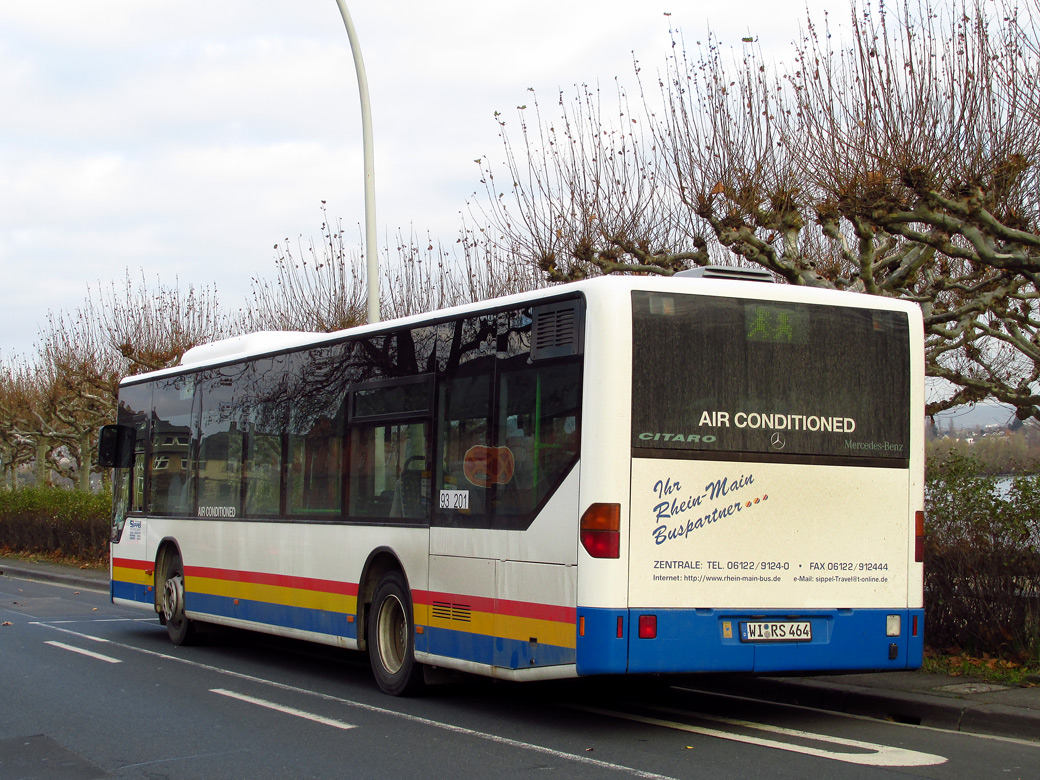
{"label": "white rounded-end road marking on asphalt below the bus's rear bumper", "polygon": [[724,731],[722,729],[708,728],[706,726],[694,726],[688,723],[666,721],[659,718],[650,718],[648,716],[635,714],[634,712],[620,712],[618,710],[603,709],[600,707],[586,706],[582,704],[571,704],[569,706],[571,706],[573,709],[580,709],[587,712],[596,712],[597,714],[608,716],[610,718],[621,718],[626,721],[635,721],[636,723],[646,723],[652,726],[662,726],[665,728],[676,729],[677,731],[688,731],[694,734],[716,736],[721,739],[730,739],[732,742],[745,743],[747,745],[758,745],[763,748],[786,750],[791,753],[802,753],[804,755],[816,756],[818,758],[830,758],[835,761],[844,761],[846,763],[858,763],[867,766],[931,766],[937,763],[946,762],[945,757],[934,755],[932,753],[920,753],[915,750],[907,750],[905,748],[892,748],[887,745],[864,743],[858,739],[844,739],[839,736],[814,734],[809,731],[799,731],[797,729],[788,729],[782,726],[770,726],[769,724],[764,723],[738,721],[732,718],[720,718],[718,716],[701,714],[699,712],[696,713],[684,712],[683,710],[673,709],[671,707],[650,707],[650,708],[657,709],[658,711],[662,712],[668,712],[670,714],[691,716],[698,720],[712,721],[714,723],[721,723],[736,728],[743,728],[755,731],[765,731],[766,733],[780,734],[783,736],[792,736],[799,739],[806,739],[816,743],[839,745],[844,748],[854,748],[865,752],[842,753],[833,750],[826,750],[824,748],[812,748],[807,745],[795,745],[791,743],[779,742],[777,739],[766,739],[764,737],[753,736],[751,734],[738,734],[732,731]]}

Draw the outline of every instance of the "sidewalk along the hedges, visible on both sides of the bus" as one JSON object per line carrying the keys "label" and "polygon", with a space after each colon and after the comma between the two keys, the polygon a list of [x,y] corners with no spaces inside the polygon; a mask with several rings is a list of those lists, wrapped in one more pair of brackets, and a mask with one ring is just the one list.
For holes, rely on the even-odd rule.
{"label": "sidewalk along the hedges, visible on both sides of the bus", "polygon": [[[0,574],[108,590],[107,571],[0,557]],[[896,723],[1040,742],[1040,685],[1007,687],[925,672],[813,677],[703,675],[684,677],[680,684]]]}

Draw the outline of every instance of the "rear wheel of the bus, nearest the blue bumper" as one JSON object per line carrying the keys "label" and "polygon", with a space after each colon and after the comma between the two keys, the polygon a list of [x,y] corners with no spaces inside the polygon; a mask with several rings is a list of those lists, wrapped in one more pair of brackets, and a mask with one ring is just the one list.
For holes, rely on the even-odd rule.
{"label": "rear wheel of the bus, nearest the blue bumper", "polygon": [[422,687],[422,669],[415,662],[412,599],[399,572],[380,580],[368,612],[368,659],[375,681],[390,696],[408,696]]}

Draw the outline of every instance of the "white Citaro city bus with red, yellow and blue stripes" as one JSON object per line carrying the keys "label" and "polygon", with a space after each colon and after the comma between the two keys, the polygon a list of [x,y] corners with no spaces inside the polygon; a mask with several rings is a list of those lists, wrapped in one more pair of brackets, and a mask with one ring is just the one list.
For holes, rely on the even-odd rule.
{"label": "white Citaro city bus with red, yellow and blue stripes", "polygon": [[915,305],[734,269],[239,336],[121,385],[111,600],[391,695],[913,669],[924,407]]}

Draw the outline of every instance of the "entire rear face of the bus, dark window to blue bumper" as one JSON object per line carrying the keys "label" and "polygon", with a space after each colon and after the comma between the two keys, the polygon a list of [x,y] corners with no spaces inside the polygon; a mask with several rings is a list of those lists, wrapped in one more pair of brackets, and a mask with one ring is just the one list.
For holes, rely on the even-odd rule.
{"label": "entire rear face of the bus, dark window to blue bumper", "polygon": [[854,297],[632,291],[627,604],[578,674],[920,666],[919,319]]}

